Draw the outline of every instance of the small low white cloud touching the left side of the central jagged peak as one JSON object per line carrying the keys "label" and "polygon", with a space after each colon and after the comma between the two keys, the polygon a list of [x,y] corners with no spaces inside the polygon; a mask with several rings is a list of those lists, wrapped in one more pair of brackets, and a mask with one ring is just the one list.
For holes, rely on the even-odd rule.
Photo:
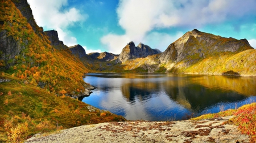
{"label": "small low white cloud touching the left side of the central jagged peak", "polygon": [[131,40],[126,35],[108,34],[101,38],[101,43],[106,45],[110,53],[120,54],[123,47]]}

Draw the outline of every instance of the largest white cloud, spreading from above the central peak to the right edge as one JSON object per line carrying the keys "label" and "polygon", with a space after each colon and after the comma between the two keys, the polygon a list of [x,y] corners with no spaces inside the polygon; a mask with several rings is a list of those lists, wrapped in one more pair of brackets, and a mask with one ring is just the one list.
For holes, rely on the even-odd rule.
{"label": "largest white cloud, spreading from above the central peak to the right edge", "polygon": [[[117,8],[118,23],[125,30],[125,34],[119,37],[141,42],[154,29],[193,29],[203,27],[205,24],[218,24],[230,18],[242,18],[255,13],[255,5],[255,0],[120,0]],[[115,34],[104,37],[110,37],[109,35]],[[118,35],[115,35],[115,39],[118,39]],[[123,43],[126,42],[129,41]],[[113,44],[112,40],[104,41],[102,44],[111,50],[123,47],[114,47],[118,44]]]}

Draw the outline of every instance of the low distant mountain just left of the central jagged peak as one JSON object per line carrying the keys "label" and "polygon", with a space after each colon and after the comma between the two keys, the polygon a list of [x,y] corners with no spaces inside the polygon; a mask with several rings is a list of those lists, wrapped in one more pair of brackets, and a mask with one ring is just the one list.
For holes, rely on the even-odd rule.
{"label": "low distant mountain just left of the central jagged peak", "polygon": [[89,53],[88,54],[92,59],[101,59],[105,62],[110,62],[118,58],[119,55],[115,55],[113,53],[102,52],[102,53]]}

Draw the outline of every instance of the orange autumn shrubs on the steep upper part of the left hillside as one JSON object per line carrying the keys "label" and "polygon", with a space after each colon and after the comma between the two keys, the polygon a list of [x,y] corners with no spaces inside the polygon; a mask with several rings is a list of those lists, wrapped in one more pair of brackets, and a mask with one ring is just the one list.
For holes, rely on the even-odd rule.
{"label": "orange autumn shrubs on the steep upper part of the left hillside", "polygon": [[[35,85],[42,81],[47,84],[45,88],[52,93],[83,90],[82,76],[89,70],[70,50],[54,49],[42,29],[37,27],[39,33],[35,33],[13,2],[1,1],[0,12],[3,15],[0,21],[4,21],[0,25],[1,31],[6,31],[7,36],[13,37],[22,47],[22,51],[14,59],[0,61],[4,72]],[[10,67],[5,69],[7,64]],[[65,80],[69,81],[67,85],[72,83],[72,86],[64,89],[61,81]]]}

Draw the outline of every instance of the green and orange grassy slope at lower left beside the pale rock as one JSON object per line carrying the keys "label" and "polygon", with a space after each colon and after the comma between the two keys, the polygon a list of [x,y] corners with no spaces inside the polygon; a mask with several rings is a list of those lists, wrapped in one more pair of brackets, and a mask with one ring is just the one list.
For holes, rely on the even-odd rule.
{"label": "green and orange grassy slope at lower left beside the pale rock", "polygon": [[0,79],[11,80],[0,83],[0,142],[19,142],[35,133],[125,120],[109,111],[90,112],[84,102],[57,97],[7,73],[2,73]]}

